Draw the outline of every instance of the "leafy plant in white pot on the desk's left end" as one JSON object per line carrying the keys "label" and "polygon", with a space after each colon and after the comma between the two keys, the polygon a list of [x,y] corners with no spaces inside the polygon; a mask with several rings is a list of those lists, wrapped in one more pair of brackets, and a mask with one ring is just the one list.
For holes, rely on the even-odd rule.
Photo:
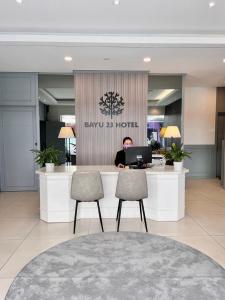
{"label": "leafy plant in white pot on the desk's left end", "polygon": [[35,154],[35,162],[41,167],[45,165],[46,172],[53,172],[55,165],[59,164],[59,154],[61,151],[52,146],[44,150],[32,149],[31,151]]}

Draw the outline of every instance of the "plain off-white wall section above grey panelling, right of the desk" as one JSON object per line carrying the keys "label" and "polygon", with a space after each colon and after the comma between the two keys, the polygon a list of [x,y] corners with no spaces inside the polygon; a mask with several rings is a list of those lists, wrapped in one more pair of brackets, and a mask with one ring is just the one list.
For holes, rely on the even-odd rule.
{"label": "plain off-white wall section above grey panelling, right of the desk", "polygon": [[184,144],[215,144],[216,88],[184,87]]}

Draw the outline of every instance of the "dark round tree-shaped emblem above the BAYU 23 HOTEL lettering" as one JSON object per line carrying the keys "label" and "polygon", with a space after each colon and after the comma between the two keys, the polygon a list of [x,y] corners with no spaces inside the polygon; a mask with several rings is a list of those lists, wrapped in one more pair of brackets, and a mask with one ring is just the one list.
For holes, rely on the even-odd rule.
{"label": "dark round tree-shaped emblem above the BAYU 23 HOTEL lettering", "polygon": [[118,93],[106,92],[103,97],[100,98],[99,102],[100,111],[105,116],[120,115],[124,110],[123,97],[120,97]]}

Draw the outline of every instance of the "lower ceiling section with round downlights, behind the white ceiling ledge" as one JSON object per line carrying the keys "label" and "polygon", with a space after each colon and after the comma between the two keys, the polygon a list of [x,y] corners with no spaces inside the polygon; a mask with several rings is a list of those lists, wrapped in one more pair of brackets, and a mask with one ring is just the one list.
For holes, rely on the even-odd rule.
{"label": "lower ceiling section with round downlights, behind the white ceiling ledge", "polygon": [[[187,74],[190,84],[225,85],[224,48],[55,47],[0,45],[2,72],[72,73],[73,70],[145,70]],[[71,63],[64,61],[71,55]],[[143,62],[150,56],[151,63]],[[109,60],[104,60],[109,58]]]}

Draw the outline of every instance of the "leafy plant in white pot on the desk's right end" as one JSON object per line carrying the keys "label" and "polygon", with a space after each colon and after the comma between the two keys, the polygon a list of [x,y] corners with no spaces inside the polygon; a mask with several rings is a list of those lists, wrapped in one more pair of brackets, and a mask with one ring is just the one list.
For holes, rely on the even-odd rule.
{"label": "leafy plant in white pot on the desk's right end", "polygon": [[191,153],[183,150],[183,145],[177,146],[175,143],[171,145],[171,150],[165,153],[165,158],[173,161],[174,170],[180,171],[183,168],[183,159],[185,157],[191,158]]}

